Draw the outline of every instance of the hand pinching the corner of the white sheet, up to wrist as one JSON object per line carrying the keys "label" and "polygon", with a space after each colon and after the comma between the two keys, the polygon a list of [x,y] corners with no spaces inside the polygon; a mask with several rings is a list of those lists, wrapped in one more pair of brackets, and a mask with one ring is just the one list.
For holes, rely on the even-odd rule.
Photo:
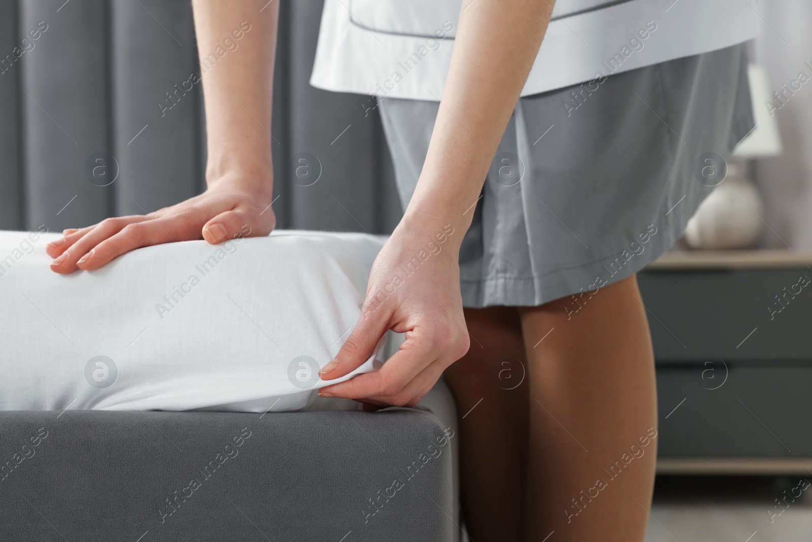
{"label": "hand pinching the corner of the white sheet, up to wrist", "polygon": [[361,317],[335,359],[322,368],[322,379],[361,366],[388,329],[405,333],[406,340],[379,371],[326,386],[320,396],[414,406],[468,351],[457,260],[462,234],[451,224],[410,228],[401,223],[395,229],[375,259]]}

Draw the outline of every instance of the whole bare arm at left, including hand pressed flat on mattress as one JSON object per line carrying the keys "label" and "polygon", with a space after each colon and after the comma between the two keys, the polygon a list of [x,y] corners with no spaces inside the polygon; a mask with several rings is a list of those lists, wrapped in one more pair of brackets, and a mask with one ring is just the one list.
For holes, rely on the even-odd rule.
{"label": "whole bare arm at left, including hand pressed flat on mattress", "polygon": [[[270,117],[279,2],[193,0],[205,99],[206,180],[199,196],[149,215],[123,216],[67,230],[47,245],[51,269],[98,269],[143,246],[235,236],[266,236],[276,225]],[[267,9],[266,9],[267,8]],[[224,40],[236,46],[210,62]],[[222,58],[221,58],[222,57]],[[207,63],[208,61],[208,63]],[[146,212],[146,211],[144,211]]]}

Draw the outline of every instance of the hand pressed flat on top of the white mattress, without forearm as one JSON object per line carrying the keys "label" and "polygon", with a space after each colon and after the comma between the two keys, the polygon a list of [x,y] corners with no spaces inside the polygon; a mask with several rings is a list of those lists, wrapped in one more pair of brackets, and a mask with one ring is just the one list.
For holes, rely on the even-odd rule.
{"label": "hand pressed flat on top of the white mattress, without forearm", "polygon": [[273,180],[224,176],[209,189],[149,215],[121,216],[80,228],[46,245],[57,273],[89,271],[130,250],[175,241],[205,239],[216,245],[238,236],[266,236],[276,225],[270,208]]}

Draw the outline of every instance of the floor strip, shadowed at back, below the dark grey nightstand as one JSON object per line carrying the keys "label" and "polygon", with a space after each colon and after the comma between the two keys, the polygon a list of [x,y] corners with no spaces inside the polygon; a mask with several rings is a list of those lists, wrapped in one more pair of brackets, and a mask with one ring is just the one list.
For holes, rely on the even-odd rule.
{"label": "floor strip, shadowed at back, below the dark grey nightstand", "polygon": [[646,542],[810,542],[812,488],[801,479],[812,475],[659,478]]}

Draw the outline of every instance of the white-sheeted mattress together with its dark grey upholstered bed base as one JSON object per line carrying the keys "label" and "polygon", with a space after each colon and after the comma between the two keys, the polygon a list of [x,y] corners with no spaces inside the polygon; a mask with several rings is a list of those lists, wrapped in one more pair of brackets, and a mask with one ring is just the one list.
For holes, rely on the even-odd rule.
{"label": "white-sheeted mattress together with its dark grey upholstered bed base", "polygon": [[443,379],[414,409],[314,392],[385,238],[159,245],[65,276],[56,237],[0,232],[0,540],[460,540]]}

